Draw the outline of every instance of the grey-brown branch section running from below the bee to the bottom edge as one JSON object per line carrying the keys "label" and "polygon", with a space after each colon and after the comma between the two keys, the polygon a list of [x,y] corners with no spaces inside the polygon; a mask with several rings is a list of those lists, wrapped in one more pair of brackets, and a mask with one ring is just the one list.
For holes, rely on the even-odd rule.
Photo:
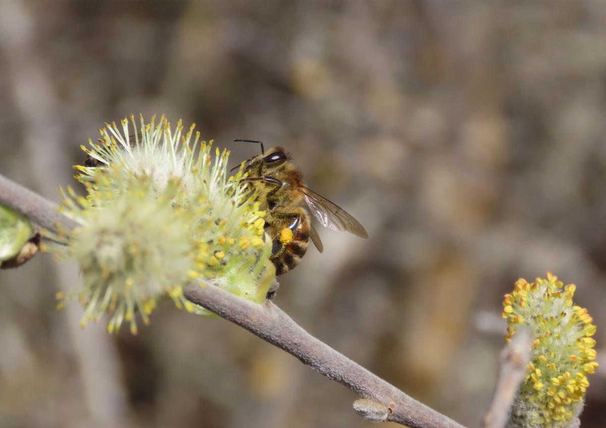
{"label": "grey-brown branch section running from below the bee to the bottom edge", "polygon": [[[214,285],[201,287],[190,284],[185,287],[184,294],[196,305],[278,346],[327,378],[347,386],[360,397],[378,402],[378,407],[382,404],[386,416],[383,421],[393,421],[411,428],[463,428],[311,336],[269,301],[259,305]],[[376,418],[373,420],[377,421]]]}

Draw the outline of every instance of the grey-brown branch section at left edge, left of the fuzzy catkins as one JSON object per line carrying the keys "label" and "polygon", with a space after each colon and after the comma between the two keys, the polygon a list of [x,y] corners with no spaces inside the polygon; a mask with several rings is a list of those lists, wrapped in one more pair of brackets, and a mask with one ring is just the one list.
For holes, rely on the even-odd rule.
{"label": "grey-brown branch section at left edge, left of the fuzzy catkins", "polygon": [[8,180],[1,174],[0,204],[21,213],[42,229],[56,231],[57,224],[63,225],[66,229],[72,229],[78,225],[78,222],[59,213],[57,204],[21,184]]}

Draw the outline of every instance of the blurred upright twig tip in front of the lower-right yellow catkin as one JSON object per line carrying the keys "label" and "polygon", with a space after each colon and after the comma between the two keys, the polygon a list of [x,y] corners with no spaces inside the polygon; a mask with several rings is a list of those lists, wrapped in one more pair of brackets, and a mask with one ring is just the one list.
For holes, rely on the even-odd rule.
{"label": "blurred upright twig tip in front of the lower-right yellow catkin", "polygon": [[510,417],[511,405],[527,374],[532,337],[530,330],[520,328],[501,351],[501,369],[494,387],[493,401],[484,417],[484,428],[504,428]]}

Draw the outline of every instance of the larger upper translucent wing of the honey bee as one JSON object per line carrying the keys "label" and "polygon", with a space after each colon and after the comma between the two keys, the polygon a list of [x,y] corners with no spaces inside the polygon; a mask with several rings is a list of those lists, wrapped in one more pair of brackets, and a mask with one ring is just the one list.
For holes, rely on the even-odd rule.
{"label": "larger upper translucent wing of the honey bee", "polygon": [[316,216],[324,227],[332,230],[347,230],[347,232],[351,232],[361,238],[368,238],[368,233],[364,230],[364,226],[337,204],[332,203],[324,198],[324,196],[318,195],[318,193],[308,187],[301,186],[299,191],[303,193],[305,202],[307,202],[313,215]]}

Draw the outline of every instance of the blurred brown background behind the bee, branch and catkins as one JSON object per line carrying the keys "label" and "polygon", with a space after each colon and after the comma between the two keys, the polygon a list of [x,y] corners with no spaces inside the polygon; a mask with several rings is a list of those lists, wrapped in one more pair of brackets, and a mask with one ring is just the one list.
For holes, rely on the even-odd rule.
{"label": "blurred brown background behind the bee, branch and catkins", "polygon": [[[598,325],[606,404],[605,2],[2,2],[0,171],[50,199],[130,113],[295,156],[365,241],[321,230],[276,303],[470,427],[502,294],[553,270]],[[239,144],[239,145],[238,145]],[[311,248],[311,247],[310,247]],[[169,303],[138,336],[55,310],[76,268],[1,271],[0,427],[369,427],[355,394]],[[602,349],[600,351],[600,349]]]}

